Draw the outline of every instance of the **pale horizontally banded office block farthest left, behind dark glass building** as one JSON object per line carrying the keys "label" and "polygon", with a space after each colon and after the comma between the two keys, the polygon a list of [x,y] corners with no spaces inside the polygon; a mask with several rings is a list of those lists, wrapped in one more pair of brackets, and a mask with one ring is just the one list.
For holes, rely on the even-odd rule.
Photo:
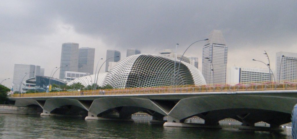
{"label": "pale horizontally banded office block farthest left, behind dark glass building", "polygon": [[44,76],[44,68],[36,65],[15,64],[12,80],[14,91],[22,91],[23,83],[21,82],[29,78],[34,78],[36,75]]}

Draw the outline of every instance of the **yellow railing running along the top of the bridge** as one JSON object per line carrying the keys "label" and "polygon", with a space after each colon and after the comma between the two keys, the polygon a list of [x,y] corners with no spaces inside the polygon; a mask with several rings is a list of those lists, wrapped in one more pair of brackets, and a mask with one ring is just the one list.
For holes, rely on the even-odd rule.
{"label": "yellow railing running along the top of the bridge", "polygon": [[233,92],[233,91],[266,91],[297,90],[297,83],[271,83],[253,85],[216,85],[216,86],[162,86],[150,88],[126,88],[105,90],[62,91],[49,93],[13,94],[10,97],[47,97],[47,96],[81,96],[81,95],[119,95],[119,94],[160,94],[160,93],[192,93],[192,92]]}

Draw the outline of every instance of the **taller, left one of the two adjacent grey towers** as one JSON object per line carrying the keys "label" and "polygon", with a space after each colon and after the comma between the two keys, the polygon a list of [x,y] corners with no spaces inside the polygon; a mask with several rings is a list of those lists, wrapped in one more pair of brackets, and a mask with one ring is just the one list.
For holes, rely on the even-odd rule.
{"label": "taller, left one of the two adjacent grey towers", "polygon": [[59,79],[64,79],[66,71],[78,71],[78,43],[63,43]]}

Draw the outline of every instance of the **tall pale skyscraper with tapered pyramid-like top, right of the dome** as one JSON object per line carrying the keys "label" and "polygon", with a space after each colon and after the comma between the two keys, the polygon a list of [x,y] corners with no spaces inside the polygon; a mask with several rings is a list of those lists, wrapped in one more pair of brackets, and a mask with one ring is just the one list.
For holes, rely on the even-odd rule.
{"label": "tall pale skyscraper with tapered pyramid-like top, right of the dome", "polygon": [[211,31],[202,52],[202,74],[207,84],[225,84],[228,47],[220,30]]}

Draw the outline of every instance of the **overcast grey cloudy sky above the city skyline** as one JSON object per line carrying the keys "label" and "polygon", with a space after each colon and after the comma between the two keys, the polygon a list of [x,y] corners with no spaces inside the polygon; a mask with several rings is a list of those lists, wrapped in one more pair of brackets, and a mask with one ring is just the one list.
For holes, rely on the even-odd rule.
{"label": "overcast grey cloudy sky above the city skyline", "polygon": [[[183,53],[218,29],[228,46],[227,68],[266,68],[252,61],[268,63],[266,50],[274,70],[277,52],[297,53],[296,0],[2,0],[0,9],[0,81],[10,78],[5,86],[11,86],[14,64],[40,65],[49,76],[60,66],[65,42],[95,48],[97,63],[108,49],[124,59],[127,48],[156,54],[178,43]],[[200,70],[203,45],[195,43],[185,53],[199,58]]]}

